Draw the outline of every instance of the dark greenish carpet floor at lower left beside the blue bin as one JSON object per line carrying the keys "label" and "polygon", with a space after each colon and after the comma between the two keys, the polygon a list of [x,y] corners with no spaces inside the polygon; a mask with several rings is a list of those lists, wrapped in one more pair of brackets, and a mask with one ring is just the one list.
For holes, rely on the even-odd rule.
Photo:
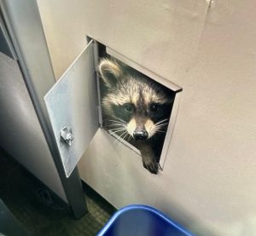
{"label": "dark greenish carpet floor at lower left beside the blue bin", "polygon": [[75,220],[40,181],[0,151],[0,199],[31,235],[96,235],[115,209],[90,187],[84,191],[89,212]]}

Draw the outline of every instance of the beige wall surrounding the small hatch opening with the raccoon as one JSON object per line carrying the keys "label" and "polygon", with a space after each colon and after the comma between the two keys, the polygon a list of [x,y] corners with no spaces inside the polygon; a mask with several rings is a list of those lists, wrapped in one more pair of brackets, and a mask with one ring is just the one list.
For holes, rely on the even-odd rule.
{"label": "beige wall surrounding the small hatch opening with the raccoon", "polygon": [[[256,234],[253,0],[38,0],[55,75],[89,34],[183,87],[165,169],[100,130],[82,178],[117,207],[151,204],[198,235]],[[99,148],[101,147],[101,148]]]}

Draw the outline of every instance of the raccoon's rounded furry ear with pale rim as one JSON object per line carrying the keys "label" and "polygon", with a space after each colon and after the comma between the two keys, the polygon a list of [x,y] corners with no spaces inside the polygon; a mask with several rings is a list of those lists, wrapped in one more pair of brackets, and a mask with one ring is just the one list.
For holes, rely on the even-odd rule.
{"label": "raccoon's rounded furry ear with pale rim", "polygon": [[104,59],[100,62],[99,71],[104,83],[106,83],[109,88],[115,86],[122,74],[119,64],[108,59]]}

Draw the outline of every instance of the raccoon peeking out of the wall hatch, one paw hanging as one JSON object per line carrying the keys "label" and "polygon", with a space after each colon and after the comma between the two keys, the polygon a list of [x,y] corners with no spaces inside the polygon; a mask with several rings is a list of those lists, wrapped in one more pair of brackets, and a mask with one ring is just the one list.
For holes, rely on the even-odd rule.
{"label": "raccoon peeking out of the wall hatch, one paw hanging", "polygon": [[99,73],[103,127],[137,147],[144,168],[157,174],[172,112],[172,91],[113,58],[100,61]]}

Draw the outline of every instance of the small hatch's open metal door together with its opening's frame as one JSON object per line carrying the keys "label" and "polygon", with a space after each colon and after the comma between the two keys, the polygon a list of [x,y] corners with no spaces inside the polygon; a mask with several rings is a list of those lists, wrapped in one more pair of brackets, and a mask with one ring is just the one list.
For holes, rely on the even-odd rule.
{"label": "small hatch's open metal door together with its opening's frame", "polygon": [[[163,167],[165,163],[167,147],[171,141],[172,129],[177,114],[178,92],[181,91],[181,88],[119,55],[112,49],[106,49],[101,43],[90,40],[83,52],[74,60],[73,64],[49,90],[48,94],[44,96],[50,124],[55,134],[55,142],[61,154],[61,161],[67,177],[70,176],[79,163],[79,159],[89,146],[96,130],[99,129],[99,126],[102,127],[105,124],[105,120],[102,120],[104,117],[102,109],[99,106],[103,97],[101,94],[102,79],[99,78],[97,68],[101,57],[109,55],[122,61],[133,70],[143,73],[147,76],[148,81],[154,78],[154,83],[170,90],[173,103],[168,109],[170,109],[171,115],[168,117],[166,135],[159,144],[161,149],[160,167]],[[131,150],[140,154],[140,151],[132,145],[132,141],[123,139],[124,134],[108,129],[109,127],[102,128],[115,137],[116,141],[125,144]],[[130,137],[130,140],[132,140],[132,137]]]}

